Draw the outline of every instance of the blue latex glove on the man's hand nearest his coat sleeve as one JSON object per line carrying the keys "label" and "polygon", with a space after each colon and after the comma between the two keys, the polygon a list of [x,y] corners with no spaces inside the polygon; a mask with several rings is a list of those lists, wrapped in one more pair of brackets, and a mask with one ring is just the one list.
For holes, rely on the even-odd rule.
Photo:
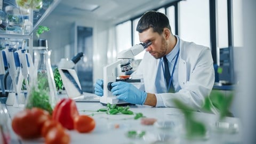
{"label": "blue latex glove on the man's hand nearest his coat sleeve", "polygon": [[146,101],[147,93],[140,91],[131,83],[119,81],[112,83],[111,86],[113,87],[111,92],[117,99],[139,105],[143,105]]}

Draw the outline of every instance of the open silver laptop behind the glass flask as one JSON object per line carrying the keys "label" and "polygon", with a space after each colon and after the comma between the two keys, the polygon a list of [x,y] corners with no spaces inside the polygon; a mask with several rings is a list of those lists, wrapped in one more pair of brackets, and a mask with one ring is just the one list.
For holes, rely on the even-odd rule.
{"label": "open silver laptop behind the glass flask", "polygon": [[59,68],[59,73],[68,98],[76,102],[100,102],[100,98],[96,94],[82,91],[81,84],[74,69]]}

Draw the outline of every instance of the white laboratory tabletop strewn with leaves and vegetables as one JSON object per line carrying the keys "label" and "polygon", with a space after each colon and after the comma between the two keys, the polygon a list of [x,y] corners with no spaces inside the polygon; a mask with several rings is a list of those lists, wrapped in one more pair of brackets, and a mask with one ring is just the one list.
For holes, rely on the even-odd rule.
{"label": "white laboratory tabletop strewn with leaves and vegetables", "polygon": [[[98,110],[104,108],[99,102],[76,102],[81,115],[89,115],[93,112],[83,112],[82,110]],[[6,106],[12,118],[21,108]],[[215,129],[218,116],[213,114],[195,112],[195,117],[204,122],[207,127],[206,137],[203,139],[188,140],[185,138],[184,116],[176,108],[155,108],[149,106],[131,106],[134,113],[142,113],[148,118],[156,118],[154,125],[142,125],[141,119],[133,119],[134,115],[107,115],[94,112],[95,129],[91,133],[78,133],[75,130],[68,131],[71,143],[241,143],[241,122],[238,118],[227,117],[224,121],[235,124],[238,128],[225,129],[219,131]],[[100,112],[99,112],[100,113]],[[124,119],[126,118],[126,119]],[[131,119],[129,119],[131,118]],[[44,143],[44,139],[20,140],[11,129],[9,119],[11,143]],[[166,122],[165,126],[161,126]],[[171,123],[171,125],[167,125]],[[228,124],[227,123],[227,124]],[[223,123],[225,124],[225,123]],[[118,128],[115,128],[119,125]],[[225,126],[224,126],[225,127]],[[234,125],[233,125],[234,127]],[[231,125],[232,128],[232,125]],[[128,131],[145,131],[142,138],[132,139],[126,136]]]}

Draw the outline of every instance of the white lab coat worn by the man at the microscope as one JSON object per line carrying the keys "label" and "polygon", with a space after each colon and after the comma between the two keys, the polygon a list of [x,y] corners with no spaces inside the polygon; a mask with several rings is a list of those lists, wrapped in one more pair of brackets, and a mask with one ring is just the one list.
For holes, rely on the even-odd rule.
{"label": "white lab coat worn by the man at the microscope", "polygon": [[155,81],[160,61],[161,59],[155,59],[149,52],[145,53],[138,69],[132,74],[133,78],[143,79],[140,89],[160,95],[166,107],[175,107],[172,101],[175,98],[200,110],[214,84],[213,60],[209,47],[180,39],[178,81],[181,90],[176,93],[156,93]]}

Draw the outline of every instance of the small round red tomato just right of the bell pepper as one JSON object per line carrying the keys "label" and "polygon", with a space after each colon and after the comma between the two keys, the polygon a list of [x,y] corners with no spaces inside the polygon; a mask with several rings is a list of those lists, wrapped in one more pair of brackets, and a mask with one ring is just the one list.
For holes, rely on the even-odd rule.
{"label": "small round red tomato just right of the bell pepper", "polygon": [[74,119],[74,127],[78,132],[91,132],[95,127],[95,121],[90,116],[80,115]]}

